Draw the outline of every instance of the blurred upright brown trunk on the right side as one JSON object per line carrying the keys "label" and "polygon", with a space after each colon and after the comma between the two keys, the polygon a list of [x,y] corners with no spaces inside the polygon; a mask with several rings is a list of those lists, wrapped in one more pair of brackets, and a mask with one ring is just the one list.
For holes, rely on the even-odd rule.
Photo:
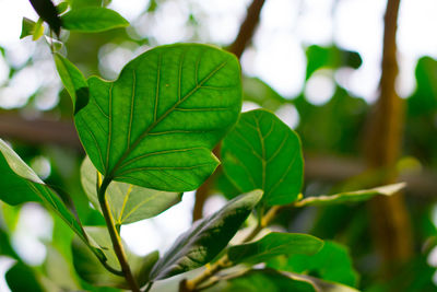
{"label": "blurred upright brown trunk on the right side", "polygon": [[[395,33],[400,0],[388,0],[385,15],[380,96],[370,113],[367,163],[370,168],[387,170],[378,184],[397,180],[403,130],[403,104],[395,93],[398,75]],[[403,196],[378,197],[370,201],[374,240],[382,258],[386,276],[412,256],[412,231]]]}

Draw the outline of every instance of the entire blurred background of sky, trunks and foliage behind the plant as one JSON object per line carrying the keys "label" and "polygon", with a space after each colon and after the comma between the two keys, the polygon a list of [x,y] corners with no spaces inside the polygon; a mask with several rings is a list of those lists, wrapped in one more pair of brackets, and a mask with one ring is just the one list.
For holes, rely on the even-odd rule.
{"label": "entire blurred background of sky, trunks and foliage behind the plant", "polygon": [[[394,50],[395,25],[388,17],[385,25],[390,3],[380,0],[104,2],[131,25],[60,36],[61,52],[86,77],[116,79],[127,61],[157,45],[228,48],[241,62],[243,109],[265,107],[300,136],[305,196],[409,184],[393,200],[290,210],[277,227],[340,243],[352,262],[342,272],[352,272],[359,289],[437,290],[437,1],[400,2]],[[70,97],[45,38],[20,39],[23,16],[38,19],[28,1],[0,0],[0,137],[49,185],[72,194],[85,224],[102,224],[81,188],[84,152]],[[380,81],[383,44],[388,60],[397,57],[399,70],[389,61],[385,68],[398,72],[395,94]],[[385,108],[380,101],[390,94],[395,105]],[[163,252],[193,217],[218,209],[234,191],[217,172],[157,218],[123,226],[122,237],[138,254]],[[66,237],[72,234],[40,206],[0,202],[0,291],[10,291],[3,276],[14,258],[74,290],[76,276],[61,277],[72,270]]]}

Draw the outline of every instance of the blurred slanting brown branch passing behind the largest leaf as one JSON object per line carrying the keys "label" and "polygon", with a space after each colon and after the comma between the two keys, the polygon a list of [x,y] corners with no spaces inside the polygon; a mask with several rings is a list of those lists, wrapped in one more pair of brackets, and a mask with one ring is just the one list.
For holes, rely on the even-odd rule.
{"label": "blurred slanting brown branch passing behind the largest leaf", "polygon": [[[233,52],[239,59],[253,36],[255,30],[260,20],[260,13],[265,0],[253,0],[247,9],[245,21],[239,27],[239,32],[234,43],[229,46],[228,51]],[[214,154],[220,157],[220,144],[214,149]],[[220,166],[218,166],[220,167]],[[218,170],[217,170],[218,171]],[[217,172],[216,172],[217,173]],[[211,187],[214,183],[215,175],[208,178],[203,185],[196,191],[194,208],[192,210],[192,221],[199,220],[203,215],[203,207],[210,195]]]}

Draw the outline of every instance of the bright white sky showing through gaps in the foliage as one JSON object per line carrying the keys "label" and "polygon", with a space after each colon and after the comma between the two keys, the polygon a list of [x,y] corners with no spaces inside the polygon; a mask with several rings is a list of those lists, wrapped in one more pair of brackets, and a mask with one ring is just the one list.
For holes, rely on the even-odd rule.
{"label": "bright white sky showing through gaps in the foliage", "polygon": [[[249,2],[250,0],[167,0],[156,13],[156,19],[152,20],[138,19],[147,0],[113,0],[111,8],[132,22],[133,28],[139,34],[154,36],[158,43],[167,44],[182,42],[191,35],[192,32],[182,26],[190,5],[194,12],[203,15],[201,36],[205,42],[228,44],[237,34]],[[332,15],[333,3],[338,5],[334,15]],[[303,45],[330,45],[335,42],[345,49],[358,51],[363,58],[363,66],[356,71],[341,71],[335,77],[329,70],[317,72],[305,89],[309,101],[315,104],[329,101],[333,94],[332,78],[336,78],[352,93],[371,102],[377,96],[380,74],[385,7],[386,1],[380,0],[268,0],[262,11],[260,27],[253,38],[253,47],[243,56],[243,69],[247,74],[264,80],[280,94],[293,97],[304,85],[306,60]],[[398,33],[400,62],[398,91],[401,96],[408,96],[414,90],[414,67],[417,58],[423,55],[437,57],[435,15],[437,15],[435,0],[401,1]],[[0,46],[5,48],[8,59],[16,66],[23,65],[37,49],[31,39],[19,39],[23,16],[37,20],[28,1],[0,0],[0,27],[2,27]],[[134,55],[130,50],[114,47],[109,47],[109,55],[103,54],[107,57],[103,58],[102,68],[113,72],[118,71],[125,63],[125,61],[113,62],[115,59],[123,56],[121,60],[129,60]],[[61,85],[51,60],[45,57],[46,54],[48,51],[39,50],[40,57],[37,57],[34,66],[16,74],[7,86],[0,89],[0,106],[7,108],[21,106],[42,85],[46,94],[39,102],[40,108],[56,105]],[[44,75],[40,74],[42,71],[45,72]],[[9,68],[0,56],[0,85],[4,84],[8,74]],[[246,107],[249,108],[250,105]],[[293,106],[288,106],[281,108],[277,115],[288,125],[296,126],[297,113],[293,110],[296,112]],[[164,250],[177,234],[189,227],[193,195],[187,194],[182,203],[155,220],[125,226],[122,236],[139,254],[155,248]],[[210,203],[209,208],[217,208],[221,203],[223,201]],[[36,250],[44,250],[40,240],[45,238],[47,230],[35,234],[23,234],[20,230],[20,226],[33,229],[34,220],[47,220],[44,211],[34,209],[25,209],[13,243],[23,258],[37,264],[44,259],[37,256],[44,255],[44,252]],[[211,209],[208,212],[211,212]],[[25,252],[26,249],[33,252]],[[0,258],[0,275],[8,265],[10,261]],[[8,291],[1,278],[0,291]]]}

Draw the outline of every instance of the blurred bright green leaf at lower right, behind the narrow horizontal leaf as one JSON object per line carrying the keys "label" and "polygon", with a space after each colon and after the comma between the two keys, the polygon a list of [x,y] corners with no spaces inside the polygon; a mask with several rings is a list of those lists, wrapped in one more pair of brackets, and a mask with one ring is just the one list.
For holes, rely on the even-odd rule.
{"label": "blurred bright green leaf at lower right, behind the narrow horizontal leaf", "polygon": [[273,260],[268,266],[283,271],[317,275],[324,280],[351,287],[356,287],[358,280],[347,248],[331,241],[326,241],[314,256],[294,255],[288,259]]}

